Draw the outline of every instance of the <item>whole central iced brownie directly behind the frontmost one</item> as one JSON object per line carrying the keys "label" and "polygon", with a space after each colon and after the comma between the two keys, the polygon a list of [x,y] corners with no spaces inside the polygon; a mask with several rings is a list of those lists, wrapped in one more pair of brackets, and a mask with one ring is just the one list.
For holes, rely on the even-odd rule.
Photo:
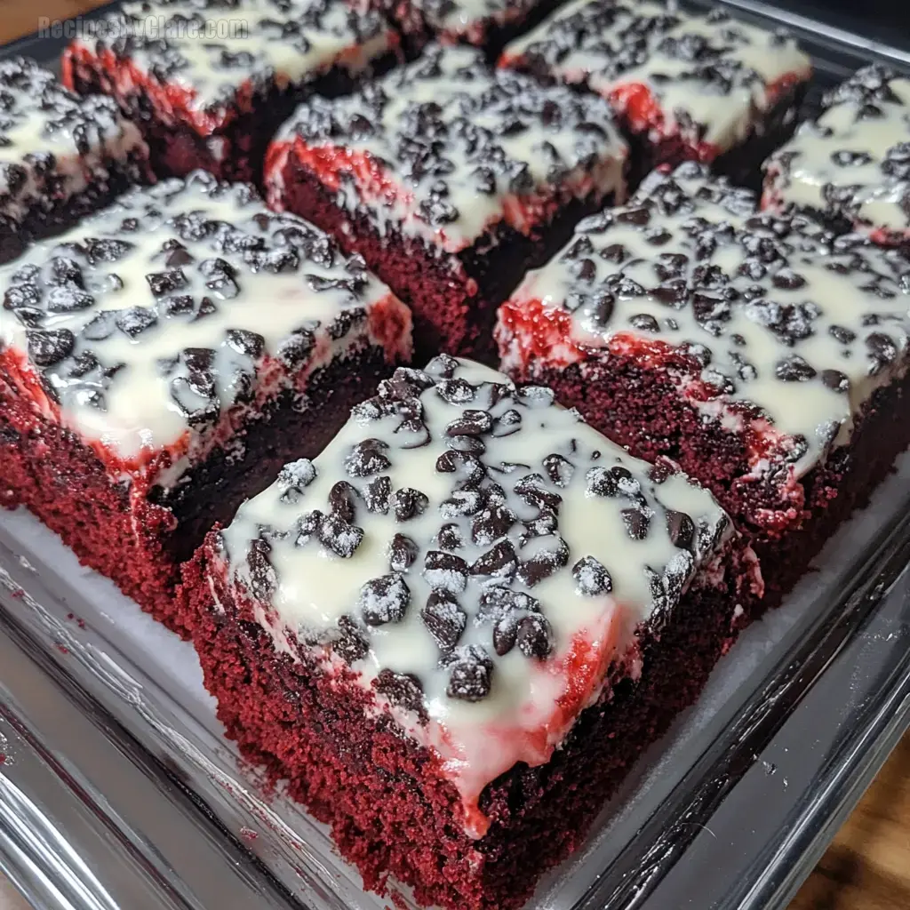
{"label": "whole central iced brownie directly behind the frontmost one", "polygon": [[358,251],[410,305],[418,359],[480,357],[524,272],[622,197],[626,151],[601,98],[432,45],[355,96],[300,106],[266,185],[272,207]]}

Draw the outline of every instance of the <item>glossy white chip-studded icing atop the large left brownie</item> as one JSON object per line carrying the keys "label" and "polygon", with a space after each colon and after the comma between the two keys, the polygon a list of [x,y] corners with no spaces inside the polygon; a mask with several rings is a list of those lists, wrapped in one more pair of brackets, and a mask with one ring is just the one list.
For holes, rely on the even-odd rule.
{"label": "glossy white chip-studded icing atop the large left brownie", "polygon": [[[23,352],[60,420],[119,458],[229,433],[236,405],[302,388],[339,351],[410,317],[317,228],[197,173],[137,189],[0,269],[0,348]],[[51,405],[47,404],[51,409]]]}

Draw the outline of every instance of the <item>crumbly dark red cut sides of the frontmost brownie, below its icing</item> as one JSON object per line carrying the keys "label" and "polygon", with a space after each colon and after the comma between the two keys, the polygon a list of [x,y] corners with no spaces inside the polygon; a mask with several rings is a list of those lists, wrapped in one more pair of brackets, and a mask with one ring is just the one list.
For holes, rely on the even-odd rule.
{"label": "crumbly dark red cut sides of the frontmost brownie, below its icing", "polygon": [[476,840],[452,824],[460,795],[438,759],[388,714],[365,714],[362,686],[339,684],[306,656],[275,652],[258,622],[263,608],[238,602],[223,576],[213,600],[217,546],[210,535],[185,565],[182,596],[199,617],[194,643],[227,735],[331,826],[366,888],[386,893],[397,880],[421,905],[449,910],[518,908],[543,872],[581,846],[632,764],[694,703],[735,640],[741,580],[754,575],[746,551],[728,552],[725,588],[693,586],[670,615],[640,630],[638,681],[613,668],[609,693],[581,713],[550,762],[519,763],[489,784],[479,805],[492,824]]}

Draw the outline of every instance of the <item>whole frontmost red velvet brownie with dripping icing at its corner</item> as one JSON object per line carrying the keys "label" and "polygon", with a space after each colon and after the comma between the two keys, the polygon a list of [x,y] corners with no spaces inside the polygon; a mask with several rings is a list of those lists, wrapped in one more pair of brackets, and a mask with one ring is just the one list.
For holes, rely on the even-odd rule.
{"label": "whole frontmost red velvet brownie with dripping icing at its corner", "polygon": [[510,910],[736,634],[713,498],[448,356],[399,369],[184,572],[228,735],[368,888]]}

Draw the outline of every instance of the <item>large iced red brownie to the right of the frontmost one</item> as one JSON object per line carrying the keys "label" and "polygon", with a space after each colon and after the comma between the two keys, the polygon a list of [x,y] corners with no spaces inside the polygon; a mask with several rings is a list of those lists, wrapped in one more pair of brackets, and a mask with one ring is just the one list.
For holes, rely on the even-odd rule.
{"label": "large iced red brownie to the right of the frontmost one", "polygon": [[910,262],[684,165],[500,310],[502,364],[701,480],[779,601],[910,443]]}

